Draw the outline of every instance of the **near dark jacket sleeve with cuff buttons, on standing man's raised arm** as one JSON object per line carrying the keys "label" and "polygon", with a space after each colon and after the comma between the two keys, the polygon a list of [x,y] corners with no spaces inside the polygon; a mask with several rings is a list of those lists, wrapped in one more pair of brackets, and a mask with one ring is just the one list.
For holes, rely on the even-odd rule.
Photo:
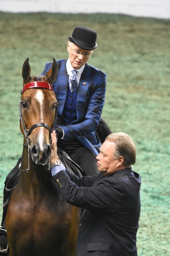
{"label": "near dark jacket sleeve with cuff buttons, on standing man's raised arm", "polygon": [[123,196],[122,185],[116,181],[115,184],[109,182],[112,179],[107,178],[101,179],[97,186],[93,186],[97,177],[78,178],[73,174],[68,175],[65,171],[60,171],[53,176],[51,182],[65,201],[76,207],[113,212]]}

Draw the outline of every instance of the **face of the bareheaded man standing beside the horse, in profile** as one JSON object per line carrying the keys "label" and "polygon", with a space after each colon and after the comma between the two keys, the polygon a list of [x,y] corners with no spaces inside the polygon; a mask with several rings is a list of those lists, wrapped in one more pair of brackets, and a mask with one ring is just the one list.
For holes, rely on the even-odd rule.
{"label": "face of the bareheaded man standing beside the horse, in profile", "polygon": [[123,169],[122,162],[124,159],[122,157],[114,159],[115,148],[116,144],[114,142],[106,140],[100,148],[99,155],[96,157],[98,169],[105,176]]}

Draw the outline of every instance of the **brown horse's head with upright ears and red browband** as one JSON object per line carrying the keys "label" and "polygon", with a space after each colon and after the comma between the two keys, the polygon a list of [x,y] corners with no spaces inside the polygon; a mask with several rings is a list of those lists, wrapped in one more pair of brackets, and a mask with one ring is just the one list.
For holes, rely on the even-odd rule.
{"label": "brown horse's head with upright ears and red browband", "polygon": [[50,132],[53,129],[57,100],[52,89],[56,78],[57,64],[46,76],[30,76],[31,68],[27,59],[23,63],[23,89],[20,101],[20,127],[25,142],[30,146],[32,160],[45,165],[51,153]]}

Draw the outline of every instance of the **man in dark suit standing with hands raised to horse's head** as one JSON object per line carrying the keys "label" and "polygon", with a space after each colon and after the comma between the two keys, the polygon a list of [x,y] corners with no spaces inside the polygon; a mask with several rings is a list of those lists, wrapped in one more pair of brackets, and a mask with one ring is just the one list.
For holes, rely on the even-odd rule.
{"label": "man in dark suit standing with hands raised to horse's head", "polygon": [[57,157],[51,134],[51,183],[66,202],[82,209],[77,256],[137,256],[136,234],[140,216],[140,184],[131,165],[136,146],[124,132],[109,134],[96,157],[98,175],[79,178]]}

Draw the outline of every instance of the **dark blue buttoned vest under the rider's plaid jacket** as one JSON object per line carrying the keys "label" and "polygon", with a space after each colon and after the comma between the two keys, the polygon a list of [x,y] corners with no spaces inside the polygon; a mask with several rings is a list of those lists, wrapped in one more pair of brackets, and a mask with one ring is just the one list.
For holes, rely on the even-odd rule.
{"label": "dark blue buttoned vest under the rider's plaid jacket", "polygon": [[63,109],[63,116],[66,119],[66,125],[69,125],[72,121],[77,119],[76,100],[77,89],[71,93],[70,87],[68,86],[66,102]]}

